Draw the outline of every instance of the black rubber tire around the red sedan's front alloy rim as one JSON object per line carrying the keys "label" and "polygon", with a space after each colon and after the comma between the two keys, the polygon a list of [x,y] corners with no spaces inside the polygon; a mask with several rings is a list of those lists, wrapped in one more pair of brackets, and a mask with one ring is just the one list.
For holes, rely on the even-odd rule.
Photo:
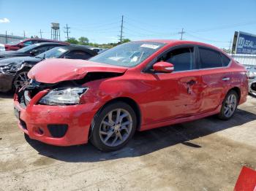
{"label": "black rubber tire around the red sedan's front alloy rim", "polygon": [[[100,128],[102,128],[102,121],[105,120],[105,117],[107,117],[107,115],[110,112],[114,111],[115,109],[124,109],[126,112],[129,112],[129,117],[131,117],[131,119],[132,119],[132,124],[129,126],[130,130],[129,130],[129,133],[127,133],[127,137],[126,137],[125,141],[117,146],[110,147],[109,145],[105,144],[102,141],[99,130],[100,130]],[[136,119],[135,111],[132,109],[132,107],[129,106],[129,104],[124,103],[123,101],[116,101],[116,102],[113,102],[113,103],[103,106],[102,109],[100,109],[99,112],[97,112],[97,114],[95,114],[94,120],[91,123],[90,141],[99,150],[102,150],[104,152],[115,151],[115,150],[121,149],[122,147],[124,147],[125,144],[128,143],[128,141],[134,135],[136,127],[137,127],[137,119]],[[113,134],[113,136],[116,136],[116,134]]]}

